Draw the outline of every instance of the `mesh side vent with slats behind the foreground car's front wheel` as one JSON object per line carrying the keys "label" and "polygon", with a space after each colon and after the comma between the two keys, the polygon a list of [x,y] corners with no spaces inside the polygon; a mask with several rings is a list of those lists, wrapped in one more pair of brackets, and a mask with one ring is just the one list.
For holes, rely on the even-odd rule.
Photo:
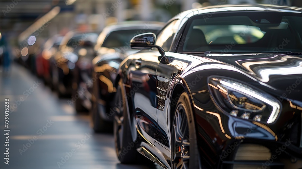
{"label": "mesh side vent with slats behind the foreground car's front wheel", "polygon": [[158,109],[162,109],[165,106],[165,101],[168,94],[168,83],[165,81],[157,81],[157,104]]}

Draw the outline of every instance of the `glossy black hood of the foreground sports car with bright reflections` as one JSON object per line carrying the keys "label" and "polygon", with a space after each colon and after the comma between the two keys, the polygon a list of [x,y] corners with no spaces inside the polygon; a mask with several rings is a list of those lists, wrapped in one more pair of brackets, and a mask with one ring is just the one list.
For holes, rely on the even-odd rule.
{"label": "glossy black hood of the foreground sports car with bright reflections", "polygon": [[302,55],[300,54],[209,54],[205,57],[246,72],[256,78],[259,84],[265,83],[269,86],[272,94],[302,101]]}

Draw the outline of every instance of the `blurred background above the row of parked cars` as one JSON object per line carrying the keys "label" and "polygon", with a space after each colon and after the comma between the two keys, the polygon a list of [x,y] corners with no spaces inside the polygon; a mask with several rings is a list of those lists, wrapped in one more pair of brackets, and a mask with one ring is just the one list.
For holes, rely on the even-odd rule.
{"label": "blurred background above the row of parked cars", "polygon": [[1,0],[0,33],[11,57],[20,57],[26,47],[21,43],[31,35],[43,43],[69,30],[101,32],[108,24],[131,20],[166,22],[191,8],[238,3],[302,6],[300,0]]}

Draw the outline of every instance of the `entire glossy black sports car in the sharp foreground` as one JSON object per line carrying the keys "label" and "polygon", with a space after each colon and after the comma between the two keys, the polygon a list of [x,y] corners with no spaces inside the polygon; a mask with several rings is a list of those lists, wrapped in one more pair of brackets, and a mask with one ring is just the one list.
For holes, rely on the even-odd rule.
{"label": "entire glossy black sports car in the sharp foreground", "polygon": [[302,8],[220,5],[133,37],[146,50],[118,70],[119,160],[139,152],[172,169],[300,169],[301,26]]}

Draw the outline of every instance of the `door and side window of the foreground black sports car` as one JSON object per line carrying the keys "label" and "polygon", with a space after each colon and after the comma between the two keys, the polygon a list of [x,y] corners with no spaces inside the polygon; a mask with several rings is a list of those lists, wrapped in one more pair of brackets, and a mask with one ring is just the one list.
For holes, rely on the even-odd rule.
{"label": "door and side window of the foreground black sports car", "polygon": [[[157,43],[164,49],[169,49],[174,33],[170,33],[179,24],[178,20],[169,23],[160,33]],[[167,36],[168,35],[168,36]],[[131,87],[133,93],[134,113],[137,129],[146,140],[155,145],[154,137],[157,131],[157,98],[156,98],[156,69],[161,59],[158,51],[144,50],[133,56],[130,70]],[[130,93],[131,94],[131,93]]]}

